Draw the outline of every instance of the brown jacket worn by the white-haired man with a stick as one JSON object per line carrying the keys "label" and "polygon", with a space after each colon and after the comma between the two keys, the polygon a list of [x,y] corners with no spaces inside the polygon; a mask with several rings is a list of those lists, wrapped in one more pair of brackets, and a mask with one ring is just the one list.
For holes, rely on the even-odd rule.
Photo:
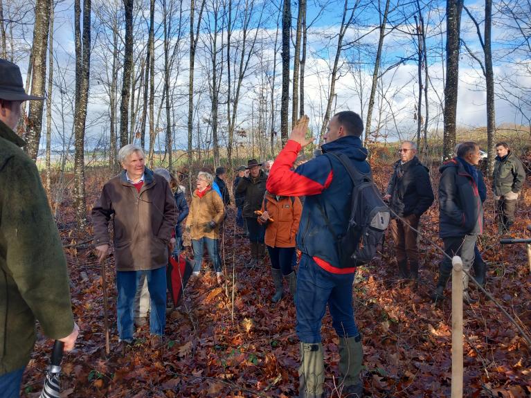
{"label": "brown jacket worn by the white-haired man with a stick", "polygon": [[177,225],[177,206],[170,184],[145,168],[140,192],[125,170],[103,186],[92,209],[94,244],[109,244],[113,217],[114,258],[118,271],[159,269],[168,264],[168,242]]}

